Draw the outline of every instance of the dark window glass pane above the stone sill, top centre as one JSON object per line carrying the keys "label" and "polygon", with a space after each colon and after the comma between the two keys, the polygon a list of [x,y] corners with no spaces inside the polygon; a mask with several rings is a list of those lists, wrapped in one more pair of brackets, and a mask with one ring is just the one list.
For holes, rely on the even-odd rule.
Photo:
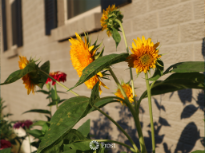
{"label": "dark window glass pane above the stone sill, top centre", "polygon": [[100,5],[100,0],[67,0],[68,19]]}

